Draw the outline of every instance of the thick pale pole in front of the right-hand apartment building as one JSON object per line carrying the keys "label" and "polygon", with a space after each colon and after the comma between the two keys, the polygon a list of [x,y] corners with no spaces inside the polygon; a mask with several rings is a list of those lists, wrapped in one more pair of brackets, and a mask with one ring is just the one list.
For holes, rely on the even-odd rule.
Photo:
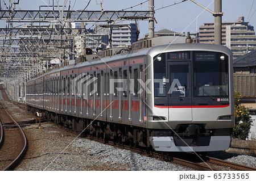
{"label": "thick pale pole in front of the right-hand apartment building", "polygon": [[222,20],[222,15],[223,13],[221,12],[221,2],[222,0],[215,0],[214,1],[214,44],[221,45],[222,39],[222,31],[221,31],[221,20]]}

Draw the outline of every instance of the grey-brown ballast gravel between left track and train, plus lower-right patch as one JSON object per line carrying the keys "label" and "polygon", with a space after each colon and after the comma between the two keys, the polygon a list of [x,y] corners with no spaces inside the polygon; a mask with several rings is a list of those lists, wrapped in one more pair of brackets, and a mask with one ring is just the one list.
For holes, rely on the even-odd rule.
{"label": "grey-brown ballast gravel between left track and train, plus lower-right patch", "polygon": [[[23,127],[28,138],[28,152],[15,170],[170,170],[189,169],[115,148],[65,131],[52,123]],[[211,153],[212,154],[212,153]],[[256,167],[255,157],[216,151],[211,156]]]}

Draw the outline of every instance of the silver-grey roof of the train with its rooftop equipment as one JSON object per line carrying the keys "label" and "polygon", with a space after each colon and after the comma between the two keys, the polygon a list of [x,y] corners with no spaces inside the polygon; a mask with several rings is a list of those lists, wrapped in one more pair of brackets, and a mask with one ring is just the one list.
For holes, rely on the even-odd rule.
{"label": "silver-grey roof of the train with its rooftop equipment", "polygon": [[[115,47],[112,49],[105,49],[97,54],[89,54],[83,57],[79,57],[76,61],[72,60],[64,62],[61,67],[55,66],[49,69],[46,73],[40,73],[33,79],[38,79],[45,75],[52,73],[78,69],[84,66],[106,64],[108,62],[117,61],[121,59],[139,57],[139,56],[155,56],[156,54],[177,51],[177,50],[205,50],[210,49],[213,51],[225,52],[232,55],[232,51],[222,45],[214,44],[197,44],[197,43],[185,43],[185,37],[179,36],[160,36],[153,37],[151,39],[141,40],[133,43],[131,49],[127,47]],[[122,51],[121,51],[122,50]],[[114,52],[115,51],[115,52]],[[114,52],[114,53],[113,53]],[[101,57],[101,58],[100,58]],[[71,64],[69,65],[69,63]],[[33,80],[31,79],[31,81]]]}

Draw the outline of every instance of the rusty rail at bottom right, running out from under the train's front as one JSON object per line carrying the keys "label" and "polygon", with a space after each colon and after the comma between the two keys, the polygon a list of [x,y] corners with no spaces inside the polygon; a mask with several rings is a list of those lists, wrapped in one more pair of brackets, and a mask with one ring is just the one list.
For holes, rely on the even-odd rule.
{"label": "rusty rail at bottom right, running out from under the train's front", "polygon": [[229,166],[229,167],[232,167],[233,169],[244,170],[244,171],[256,171],[256,168],[254,167],[241,165],[233,162],[228,162],[228,161],[224,161],[222,159],[213,158],[213,157],[207,157],[207,158],[209,159],[210,163],[214,163],[216,165]]}

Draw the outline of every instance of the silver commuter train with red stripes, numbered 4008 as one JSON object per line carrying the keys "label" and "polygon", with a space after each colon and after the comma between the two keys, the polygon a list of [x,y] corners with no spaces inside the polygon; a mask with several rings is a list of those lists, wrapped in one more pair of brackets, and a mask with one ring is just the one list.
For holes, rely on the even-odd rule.
{"label": "silver commuter train with red stripes, numbered 4008", "polygon": [[156,151],[229,148],[229,48],[161,36],[85,52],[26,82],[28,110],[82,135]]}

